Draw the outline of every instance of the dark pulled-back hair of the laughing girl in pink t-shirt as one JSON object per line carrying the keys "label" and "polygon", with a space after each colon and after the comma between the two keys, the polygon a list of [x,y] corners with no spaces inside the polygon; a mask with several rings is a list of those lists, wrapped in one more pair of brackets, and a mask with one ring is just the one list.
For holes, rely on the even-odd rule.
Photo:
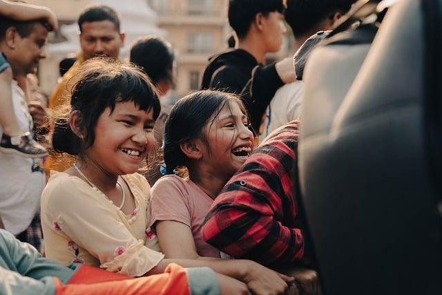
{"label": "dark pulled-back hair of the laughing girl in pink t-shirt", "polygon": [[238,103],[241,111],[247,115],[241,99],[231,93],[198,91],[178,100],[169,114],[164,130],[166,173],[174,173],[177,168],[189,166],[180,144],[195,138],[206,141],[204,127],[213,122],[229,102]]}

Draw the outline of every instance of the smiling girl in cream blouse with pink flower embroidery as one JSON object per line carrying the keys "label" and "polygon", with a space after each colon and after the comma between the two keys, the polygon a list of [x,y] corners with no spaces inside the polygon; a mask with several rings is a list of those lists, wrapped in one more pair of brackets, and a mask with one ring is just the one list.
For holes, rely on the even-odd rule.
{"label": "smiling girl in cream blouse with pink flower embroidery", "polygon": [[169,263],[211,267],[220,273],[221,293],[247,294],[249,287],[256,294],[284,294],[294,278],[257,263],[172,260],[155,251],[157,239],[148,229],[150,187],[136,173],[151,151],[160,113],[146,75],[117,61],[90,59],[75,76],[68,113],[58,120],[52,144],[77,161],[52,173],[41,196],[48,258],[128,276],[162,273]]}

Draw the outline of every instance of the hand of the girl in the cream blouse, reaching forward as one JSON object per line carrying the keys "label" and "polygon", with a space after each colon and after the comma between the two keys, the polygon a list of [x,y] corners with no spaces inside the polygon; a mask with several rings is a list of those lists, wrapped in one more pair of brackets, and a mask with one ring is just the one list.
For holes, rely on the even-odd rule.
{"label": "hand of the girl in the cream blouse, reaching forward", "polygon": [[253,294],[287,294],[287,283],[294,282],[295,278],[275,272],[253,261],[243,260],[246,264],[244,283]]}

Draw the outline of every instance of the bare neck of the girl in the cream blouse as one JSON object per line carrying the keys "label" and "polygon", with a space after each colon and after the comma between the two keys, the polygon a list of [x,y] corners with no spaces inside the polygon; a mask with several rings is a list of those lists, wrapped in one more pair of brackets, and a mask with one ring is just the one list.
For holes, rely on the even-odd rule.
{"label": "bare neck of the girl in the cream blouse", "polygon": [[77,168],[92,182],[95,187],[106,194],[107,191],[115,189],[118,175],[111,175],[93,160],[84,155],[77,160]]}

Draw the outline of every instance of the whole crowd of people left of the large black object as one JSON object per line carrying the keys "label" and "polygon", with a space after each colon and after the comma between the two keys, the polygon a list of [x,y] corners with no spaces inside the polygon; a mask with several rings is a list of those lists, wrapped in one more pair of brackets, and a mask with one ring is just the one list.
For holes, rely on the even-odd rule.
{"label": "whole crowd of people left of the large black object", "polygon": [[[294,179],[302,74],[354,1],[230,0],[234,48],[169,106],[173,47],[140,37],[119,59],[103,5],[81,12],[81,50],[45,97],[30,75],[57,19],[0,0],[0,289],[321,294]],[[296,54],[265,64],[285,22]]]}

